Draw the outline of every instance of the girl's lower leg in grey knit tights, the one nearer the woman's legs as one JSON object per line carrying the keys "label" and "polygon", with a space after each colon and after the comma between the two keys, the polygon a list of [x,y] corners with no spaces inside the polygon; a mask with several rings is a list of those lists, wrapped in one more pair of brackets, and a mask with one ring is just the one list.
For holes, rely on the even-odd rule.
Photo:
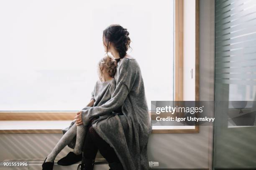
{"label": "girl's lower leg in grey knit tights, the one nearer the woman's legs", "polygon": [[77,126],[77,139],[76,139],[76,145],[74,147],[74,153],[76,155],[79,155],[82,153],[82,147],[84,144],[84,138],[85,138],[86,129],[84,125]]}

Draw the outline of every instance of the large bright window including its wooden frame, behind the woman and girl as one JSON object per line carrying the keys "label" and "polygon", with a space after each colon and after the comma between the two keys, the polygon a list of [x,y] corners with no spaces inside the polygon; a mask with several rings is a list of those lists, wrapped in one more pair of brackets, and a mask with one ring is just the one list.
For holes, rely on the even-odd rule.
{"label": "large bright window including its wooden frame, behind the woman and girl", "polygon": [[[27,120],[61,120],[68,125],[91,98],[97,63],[105,55],[102,32],[110,24],[130,32],[128,53],[141,67],[149,110],[151,101],[199,100],[198,4],[198,0],[0,1],[0,133],[23,133],[10,127],[13,121],[26,125]],[[50,121],[46,125],[38,131],[31,125],[26,133],[60,133],[59,126],[53,128]],[[198,133],[198,129],[153,125],[153,133]]]}

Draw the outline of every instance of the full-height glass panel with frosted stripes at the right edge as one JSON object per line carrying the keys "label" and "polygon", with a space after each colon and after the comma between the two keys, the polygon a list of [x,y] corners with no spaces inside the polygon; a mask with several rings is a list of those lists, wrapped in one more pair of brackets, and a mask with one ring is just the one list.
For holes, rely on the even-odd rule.
{"label": "full-height glass panel with frosted stripes at the right edge", "polygon": [[[238,110],[223,100],[251,102]],[[255,110],[256,1],[216,0],[213,170],[256,169]],[[247,126],[233,121],[241,117]]]}

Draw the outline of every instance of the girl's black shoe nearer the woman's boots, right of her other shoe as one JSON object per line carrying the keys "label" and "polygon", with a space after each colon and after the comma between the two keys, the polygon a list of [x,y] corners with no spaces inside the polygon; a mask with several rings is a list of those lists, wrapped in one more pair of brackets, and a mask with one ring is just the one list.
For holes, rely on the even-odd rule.
{"label": "girl's black shoe nearer the woman's boots, right of her other shoe", "polygon": [[82,153],[79,155],[76,155],[73,152],[69,152],[67,156],[61,158],[57,164],[62,165],[62,166],[68,166],[68,165],[73,165],[75,163],[78,163],[79,161],[82,160]]}

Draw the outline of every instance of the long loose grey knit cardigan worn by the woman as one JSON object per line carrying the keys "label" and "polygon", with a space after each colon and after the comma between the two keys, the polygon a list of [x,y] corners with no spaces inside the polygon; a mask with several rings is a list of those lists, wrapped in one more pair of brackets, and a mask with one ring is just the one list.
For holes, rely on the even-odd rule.
{"label": "long loose grey knit cardigan worn by the woman", "polygon": [[[83,125],[88,125],[93,117],[107,115],[94,120],[92,127],[114,148],[124,170],[148,170],[147,144],[152,126],[138,62],[131,57],[121,59],[115,80],[110,100],[82,110]],[[123,115],[109,115],[120,106]]]}

